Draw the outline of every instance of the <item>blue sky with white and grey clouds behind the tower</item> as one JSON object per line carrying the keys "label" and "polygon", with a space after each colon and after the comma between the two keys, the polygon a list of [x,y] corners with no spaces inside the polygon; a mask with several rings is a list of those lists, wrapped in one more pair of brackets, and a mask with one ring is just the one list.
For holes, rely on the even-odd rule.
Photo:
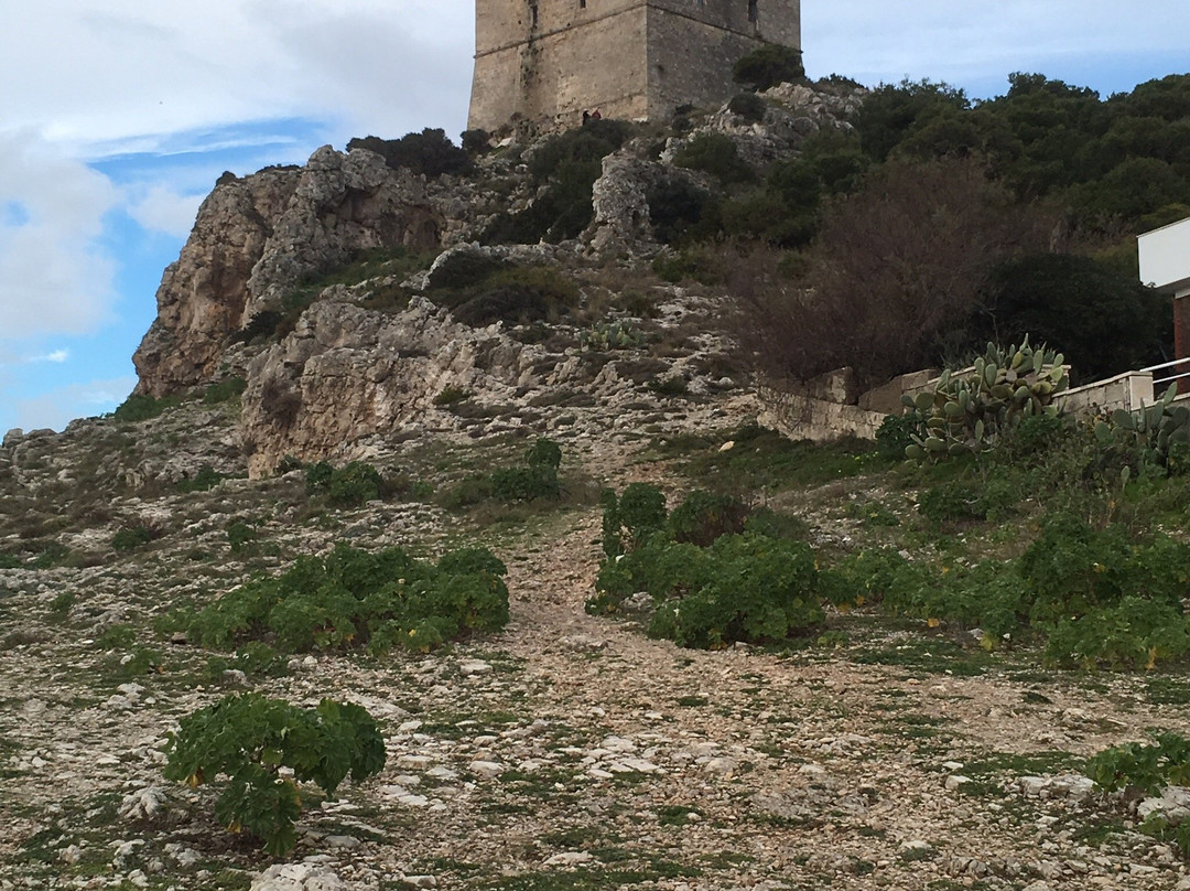
{"label": "blue sky with white and grey clouds behind the tower", "polygon": [[[482,0],[481,0],[482,1]],[[597,2],[597,0],[595,0]],[[111,411],[202,197],[224,170],[352,136],[456,136],[470,0],[37,0],[0,29],[0,434]],[[1104,95],[1190,70],[1190,4],[803,0],[810,76],[1012,71]]]}

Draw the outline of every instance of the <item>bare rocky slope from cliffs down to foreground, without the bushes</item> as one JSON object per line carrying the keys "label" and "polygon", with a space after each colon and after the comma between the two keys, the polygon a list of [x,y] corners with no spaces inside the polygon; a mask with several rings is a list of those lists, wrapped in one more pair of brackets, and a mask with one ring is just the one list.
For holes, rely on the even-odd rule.
{"label": "bare rocky slope from cliffs down to foreground, without the bushes", "polygon": [[[778,93],[759,124],[707,126],[772,158],[853,102]],[[246,343],[295,285],[370,248],[464,243],[533,188],[511,155],[488,179],[426,181],[330,149],[220,182],[137,355],[140,394],[188,397],[0,447],[0,891],[1190,887],[1177,849],[1136,831],[1138,803],[1081,773],[1145,728],[1185,727],[1184,679],[1042,671],[875,611],[722,652],[584,612],[599,488],[650,481],[675,501],[707,484],[684,462],[745,451],[760,409],[716,334],[720,295],[641,262],[657,245],[640,186],[665,163],[643,143],[606,158],[576,242],[450,254],[563,270],[564,318],[463,324],[436,303],[449,256],[328,285]],[[234,375],[242,394],[202,397]],[[537,436],[563,449],[559,501],[459,496]],[[917,531],[904,493],[840,455],[756,497],[825,549],[877,535],[857,507]],[[321,459],[367,460],[393,491],[336,507],[289,469]],[[509,567],[512,621],[428,654],[267,671],[176,630],[171,613],[339,542],[483,543]],[[176,722],[246,688],[358,703],[388,748],[378,778],[307,802],[276,862],[217,824],[208,787],[162,778]]]}

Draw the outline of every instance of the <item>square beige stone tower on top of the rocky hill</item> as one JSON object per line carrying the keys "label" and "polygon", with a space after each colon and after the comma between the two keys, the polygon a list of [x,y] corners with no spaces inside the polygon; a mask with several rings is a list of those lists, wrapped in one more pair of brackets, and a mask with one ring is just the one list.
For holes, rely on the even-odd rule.
{"label": "square beige stone tower on top of the rocky hill", "polygon": [[468,126],[575,126],[583,111],[664,118],[738,92],[732,64],[801,49],[800,0],[476,0]]}

